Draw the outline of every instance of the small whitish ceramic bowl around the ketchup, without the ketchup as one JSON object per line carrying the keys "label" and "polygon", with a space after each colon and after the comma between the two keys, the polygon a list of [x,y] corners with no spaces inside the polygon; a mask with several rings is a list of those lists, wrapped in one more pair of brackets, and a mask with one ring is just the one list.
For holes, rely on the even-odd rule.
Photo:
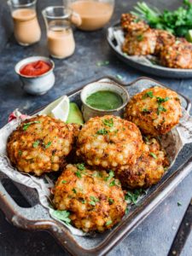
{"label": "small whitish ceramic bowl around the ketchup, without the ketchup", "polygon": [[[21,67],[35,61],[48,62],[51,69],[47,73],[43,73],[42,75],[38,76],[25,76],[20,74]],[[19,61],[15,65],[15,73],[17,73],[20,77],[21,87],[23,90],[32,95],[44,95],[55,84],[55,74],[53,73],[54,67],[54,62],[49,58],[44,56],[34,56]]]}

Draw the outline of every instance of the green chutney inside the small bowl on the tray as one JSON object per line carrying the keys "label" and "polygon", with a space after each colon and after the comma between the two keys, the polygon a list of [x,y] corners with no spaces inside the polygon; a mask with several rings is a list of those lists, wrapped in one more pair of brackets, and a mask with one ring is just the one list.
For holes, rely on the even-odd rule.
{"label": "green chutney inside the small bowl on the tray", "polygon": [[119,108],[123,100],[119,94],[110,90],[98,90],[86,99],[86,103],[92,108],[112,110]]}

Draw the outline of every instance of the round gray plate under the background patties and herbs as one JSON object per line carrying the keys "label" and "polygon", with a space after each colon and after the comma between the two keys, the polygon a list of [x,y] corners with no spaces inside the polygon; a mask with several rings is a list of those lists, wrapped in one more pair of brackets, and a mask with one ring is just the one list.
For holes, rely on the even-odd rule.
{"label": "round gray plate under the background patties and herbs", "polygon": [[137,68],[138,70],[149,73],[152,75],[157,75],[164,78],[176,78],[176,79],[191,79],[192,69],[181,69],[181,68],[170,68],[163,67],[160,65],[148,65],[146,63],[141,63],[139,61],[133,60],[129,56],[124,55],[124,53],[116,48],[117,41],[113,37],[110,31],[119,30],[119,22],[115,23],[113,26],[108,27],[107,40],[108,44],[113,49],[115,55],[119,57],[120,60],[124,61],[127,65]]}

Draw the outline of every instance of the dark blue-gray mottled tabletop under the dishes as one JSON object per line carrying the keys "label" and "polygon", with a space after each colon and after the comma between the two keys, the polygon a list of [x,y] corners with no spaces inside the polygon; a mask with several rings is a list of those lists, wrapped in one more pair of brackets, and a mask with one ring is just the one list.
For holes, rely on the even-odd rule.
{"label": "dark blue-gray mottled tabletop under the dishes", "polygon": [[[158,8],[176,8],[182,1],[150,0]],[[124,78],[129,83],[146,74],[127,67],[111,52],[105,39],[106,29],[98,32],[80,32],[76,30],[76,51],[67,60],[55,60],[55,86],[44,96],[29,96],[20,89],[20,80],[14,72],[15,63],[30,55],[48,55],[45,42],[44,23],[41,9],[46,5],[58,4],[61,1],[38,0],[38,15],[43,30],[40,43],[22,48],[15,43],[9,10],[5,0],[0,2],[0,127],[5,125],[9,113],[19,108],[23,113],[31,113],[37,108],[53,101],[92,79],[104,75]],[[113,21],[119,19],[122,12],[131,9],[134,0],[116,1]],[[106,67],[97,67],[97,61],[109,61]],[[192,97],[192,79],[158,79],[172,89]],[[20,195],[15,195],[21,200]],[[177,228],[183,218],[192,197],[192,173],[180,183],[171,195],[163,201],[131,235],[127,236],[109,255],[161,256],[166,255],[172,245]],[[177,202],[181,202],[181,206]],[[54,238],[46,232],[29,232],[19,230],[9,224],[0,212],[0,255],[67,255]],[[192,234],[183,248],[183,256],[192,255]]]}

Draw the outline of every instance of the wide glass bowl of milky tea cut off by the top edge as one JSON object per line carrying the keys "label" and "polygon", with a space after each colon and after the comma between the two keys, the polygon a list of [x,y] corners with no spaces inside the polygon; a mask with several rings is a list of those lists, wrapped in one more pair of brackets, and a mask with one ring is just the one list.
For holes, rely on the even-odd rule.
{"label": "wide glass bowl of milky tea cut off by the top edge", "polygon": [[63,0],[63,3],[81,17],[79,29],[95,31],[108,24],[115,0]]}

